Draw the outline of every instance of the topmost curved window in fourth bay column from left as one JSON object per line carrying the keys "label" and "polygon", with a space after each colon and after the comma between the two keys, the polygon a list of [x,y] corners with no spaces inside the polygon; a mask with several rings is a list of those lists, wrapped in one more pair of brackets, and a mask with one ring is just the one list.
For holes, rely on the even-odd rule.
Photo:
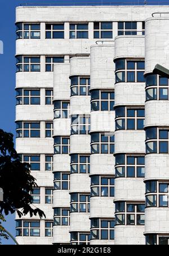
{"label": "topmost curved window in fourth bay column from left", "polygon": [[145,63],[143,59],[116,59],[115,83],[144,83]]}

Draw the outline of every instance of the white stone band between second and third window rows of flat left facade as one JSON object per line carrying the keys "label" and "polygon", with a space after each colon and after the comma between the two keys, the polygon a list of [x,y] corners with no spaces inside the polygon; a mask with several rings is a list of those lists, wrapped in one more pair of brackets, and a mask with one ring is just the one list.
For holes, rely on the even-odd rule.
{"label": "white stone band between second and third window rows of flat left facade", "polygon": [[17,72],[16,87],[53,88],[53,77],[52,72]]}

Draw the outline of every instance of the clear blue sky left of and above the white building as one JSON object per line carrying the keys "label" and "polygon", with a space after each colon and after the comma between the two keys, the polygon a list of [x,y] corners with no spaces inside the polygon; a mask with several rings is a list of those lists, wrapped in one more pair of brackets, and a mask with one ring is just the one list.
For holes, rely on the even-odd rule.
{"label": "clear blue sky left of and above the white building", "polygon": [[[15,134],[15,7],[20,3],[124,3],[133,5],[144,0],[0,0],[0,40],[3,41],[4,53],[0,54],[0,128]],[[148,0],[148,3],[161,4],[167,0]],[[14,216],[6,217],[5,227],[15,236]],[[3,244],[13,244],[11,240]]]}

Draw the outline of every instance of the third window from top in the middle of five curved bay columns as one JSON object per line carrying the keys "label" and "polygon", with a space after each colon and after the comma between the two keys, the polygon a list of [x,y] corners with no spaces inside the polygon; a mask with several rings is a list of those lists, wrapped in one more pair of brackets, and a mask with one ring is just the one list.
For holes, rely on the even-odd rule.
{"label": "third window from top in the middle of five curved bay columns", "polygon": [[114,197],[114,176],[91,176],[91,197]]}

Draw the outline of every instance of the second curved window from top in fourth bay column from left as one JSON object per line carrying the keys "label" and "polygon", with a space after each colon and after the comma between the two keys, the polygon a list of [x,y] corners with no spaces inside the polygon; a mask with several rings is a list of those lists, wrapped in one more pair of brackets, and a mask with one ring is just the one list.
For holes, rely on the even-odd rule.
{"label": "second curved window from top in fourth bay column from left", "polygon": [[144,108],[118,106],[115,108],[115,130],[143,130]]}

